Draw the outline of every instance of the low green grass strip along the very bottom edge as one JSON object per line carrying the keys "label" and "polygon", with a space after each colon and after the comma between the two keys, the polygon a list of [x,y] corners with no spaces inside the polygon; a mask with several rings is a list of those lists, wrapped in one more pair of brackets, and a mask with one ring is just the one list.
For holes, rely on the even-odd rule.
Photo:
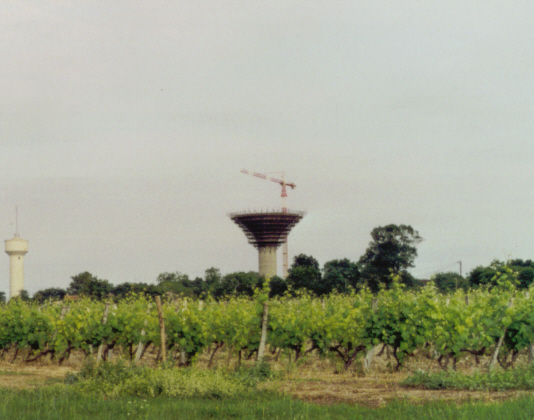
{"label": "low green grass strip along the very bottom edge", "polygon": [[255,393],[248,398],[119,397],[104,399],[80,395],[61,385],[38,390],[0,391],[0,418],[17,420],[66,419],[531,419],[534,398],[502,403],[443,402],[413,405],[394,402],[371,409],[345,404],[325,406],[293,400],[274,393]]}

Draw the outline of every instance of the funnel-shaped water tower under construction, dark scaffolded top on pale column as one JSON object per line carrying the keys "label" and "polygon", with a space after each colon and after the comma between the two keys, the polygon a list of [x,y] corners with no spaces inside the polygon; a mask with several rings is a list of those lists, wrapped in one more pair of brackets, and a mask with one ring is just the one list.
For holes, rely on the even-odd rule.
{"label": "funnel-shaped water tower under construction, dark scaffolded top on pale column", "polygon": [[260,276],[276,275],[276,250],[289,231],[304,217],[302,211],[237,212],[228,216],[241,228],[248,242],[258,250]]}

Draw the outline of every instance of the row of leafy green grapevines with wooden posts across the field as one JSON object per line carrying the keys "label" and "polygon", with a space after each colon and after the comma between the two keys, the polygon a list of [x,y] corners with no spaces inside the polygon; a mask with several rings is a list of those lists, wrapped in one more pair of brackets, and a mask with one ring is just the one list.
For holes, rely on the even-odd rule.
{"label": "row of leafy green grapevines with wooden posts across the field", "polygon": [[142,296],[41,306],[14,299],[0,307],[0,351],[12,360],[49,358],[61,364],[73,351],[106,360],[113,350],[144,363],[150,348],[159,360],[168,354],[187,365],[202,353],[211,364],[225,349],[227,364],[241,363],[258,356],[265,319],[263,338],[271,357],[317,354],[346,368],[358,358],[368,366],[374,353],[384,350],[391,352],[396,368],[415,352],[441,367],[471,355],[473,363],[508,368],[522,350],[532,354],[534,299],[507,282],[448,296],[432,285],[407,291],[396,282],[378,294],[266,296],[264,290],[254,298],[224,302],[164,300],[160,313]]}

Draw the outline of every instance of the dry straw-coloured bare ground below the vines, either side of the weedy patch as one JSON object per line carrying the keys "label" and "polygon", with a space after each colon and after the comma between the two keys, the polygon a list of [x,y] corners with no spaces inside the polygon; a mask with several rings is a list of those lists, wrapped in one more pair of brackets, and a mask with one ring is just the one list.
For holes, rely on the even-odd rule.
{"label": "dry straw-coloured bare ground below the vines, either side of the weedy patch", "polygon": [[[9,360],[9,359],[8,359]],[[22,360],[0,361],[1,388],[34,388],[61,382],[69,372],[76,372],[82,366],[82,358],[73,355],[64,366],[57,363],[40,361],[24,363]],[[287,360],[270,360],[271,368],[281,373],[282,379],[266,384],[267,388],[282,391],[294,398],[318,404],[348,403],[380,407],[393,400],[407,400],[423,403],[433,400],[446,400],[455,403],[467,401],[501,401],[522,395],[534,395],[532,391],[480,392],[423,390],[403,387],[401,381],[416,369],[437,370],[437,363],[424,358],[414,358],[400,371],[391,368],[387,357],[378,358],[373,367],[363,374],[361,363],[344,371],[332,360],[309,358],[298,364]],[[207,358],[199,360],[199,367],[207,366]],[[205,365],[205,366],[204,366]],[[221,354],[216,365],[226,365],[226,355]],[[465,358],[459,368],[465,372],[474,369],[472,359]],[[484,369],[479,366],[478,369]]]}

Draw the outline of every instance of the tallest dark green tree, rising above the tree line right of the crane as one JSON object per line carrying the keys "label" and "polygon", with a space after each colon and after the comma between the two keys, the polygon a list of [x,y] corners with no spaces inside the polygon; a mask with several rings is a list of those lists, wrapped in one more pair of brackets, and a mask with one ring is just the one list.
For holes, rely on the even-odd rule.
{"label": "tallest dark green tree, rising above the tree line right of the crane", "polygon": [[372,241],[361,256],[362,277],[373,292],[378,292],[380,284],[389,287],[391,273],[401,274],[409,281],[407,269],[414,266],[417,245],[423,238],[408,225],[379,226],[371,231]]}

